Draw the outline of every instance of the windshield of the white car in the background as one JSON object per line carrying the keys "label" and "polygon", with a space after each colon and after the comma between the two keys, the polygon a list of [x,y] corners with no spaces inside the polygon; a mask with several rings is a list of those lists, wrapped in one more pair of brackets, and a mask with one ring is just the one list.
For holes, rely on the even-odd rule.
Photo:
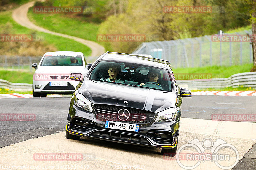
{"label": "windshield of the white car in the background", "polygon": [[82,66],[82,56],[66,56],[66,55],[46,55],[41,66]]}

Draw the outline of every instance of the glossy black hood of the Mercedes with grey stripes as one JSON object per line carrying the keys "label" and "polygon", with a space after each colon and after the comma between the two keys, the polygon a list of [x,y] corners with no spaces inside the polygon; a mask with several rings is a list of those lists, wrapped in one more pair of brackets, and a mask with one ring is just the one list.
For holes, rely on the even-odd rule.
{"label": "glossy black hood of the Mercedes with grey stripes", "polygon": [[[85,79],[79,93],[93,103],[160,112],[175,107],[176,93]],[[127,101],[125,104],[124,101]]]}

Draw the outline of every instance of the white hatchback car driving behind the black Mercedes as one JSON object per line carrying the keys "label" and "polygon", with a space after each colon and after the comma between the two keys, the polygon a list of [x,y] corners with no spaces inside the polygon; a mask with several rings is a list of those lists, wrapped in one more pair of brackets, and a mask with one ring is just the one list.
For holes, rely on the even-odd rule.
{"label": "white hatchback car driving behind the black Mercedes", "polygon": [[73,51],[47,52],[41,61],[33,63],[33,96],[46,97],[47,94],[73,94],[79,82],[70,80],[70,73],[84,76],[92,66],[86,63],[84,54]]}

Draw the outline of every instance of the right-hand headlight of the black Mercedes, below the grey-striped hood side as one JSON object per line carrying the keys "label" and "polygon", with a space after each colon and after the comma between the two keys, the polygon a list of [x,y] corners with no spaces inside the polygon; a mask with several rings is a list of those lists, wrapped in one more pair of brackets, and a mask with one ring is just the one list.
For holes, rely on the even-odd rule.
{"label": "right-hand headlight of the black Mercedes, below the grey-striped hood side", "polygon": [[173,121],[177,117],[178,110],[175,108],[169,108],[158,113],[156,122],[169,122]]}

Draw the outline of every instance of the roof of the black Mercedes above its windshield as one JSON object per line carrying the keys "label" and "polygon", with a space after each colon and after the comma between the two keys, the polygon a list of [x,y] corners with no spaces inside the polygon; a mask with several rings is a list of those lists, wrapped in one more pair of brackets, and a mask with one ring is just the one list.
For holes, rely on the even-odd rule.
{"label": "roof of the black Mercedes above its windshield", "polygon": [[128,62],[128,63],[138,63],[148,66],[155,66],[159,68],[166,69],[167,60],[151,58],[146,56],[139,56],[133,54],[125,54],[125,53],[116,53],[116,52],[107,52],[101,58],[102,60],[111,60],[117,62]]}

